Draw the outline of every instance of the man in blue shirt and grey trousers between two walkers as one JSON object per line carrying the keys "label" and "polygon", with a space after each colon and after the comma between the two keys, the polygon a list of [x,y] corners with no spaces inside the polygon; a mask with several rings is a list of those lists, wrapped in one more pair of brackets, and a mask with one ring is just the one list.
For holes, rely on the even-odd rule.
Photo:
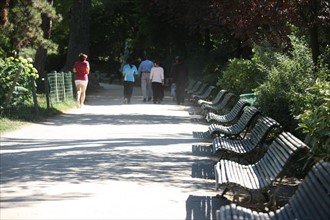
{"label": "man in blue shirt and grey trousers between two walkers", "polygon": [[152,90],[150,83],[150,71],[154,67],[154,63],[148,59],[148,57],[143,60],[139,65],[139,75],[141,76],[141,89],[143,95],[143,102],[151,100]]}

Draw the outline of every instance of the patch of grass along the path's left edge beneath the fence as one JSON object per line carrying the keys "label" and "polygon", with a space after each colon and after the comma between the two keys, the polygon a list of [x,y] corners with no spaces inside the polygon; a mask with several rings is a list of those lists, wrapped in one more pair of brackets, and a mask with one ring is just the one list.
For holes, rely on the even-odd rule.
{"label": "patch of grass along the path's left edge beneath the fence", "polygon": [[54,104],[47,108],[46,96],[38,95],[39,113],[37,114],[33,102],[27,102],[19,107],[11,107],[0,115],[0,132],[13,131],[29,123],[43,121],[49,117],[59,115],[75,106],[74,100]]}

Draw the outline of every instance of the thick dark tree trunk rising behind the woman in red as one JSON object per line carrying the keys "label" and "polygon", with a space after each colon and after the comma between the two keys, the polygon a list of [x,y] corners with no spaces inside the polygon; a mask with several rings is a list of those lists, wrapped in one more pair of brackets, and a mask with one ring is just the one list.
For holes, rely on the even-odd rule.
{"label": "thick dark tree trunk rising behind the woman in red", "polygon": [[79,53],[89,55],[91,0],[74,0],[68,54],[62,71],[72,71]]}

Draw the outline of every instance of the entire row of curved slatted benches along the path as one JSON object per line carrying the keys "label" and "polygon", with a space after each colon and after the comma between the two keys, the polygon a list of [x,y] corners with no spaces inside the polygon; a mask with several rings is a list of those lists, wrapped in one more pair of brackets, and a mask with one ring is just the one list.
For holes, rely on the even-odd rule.
{"label": "entire row of curved slatted benches along the path", "polygon": [[[212,141],[212,152],[219,157],[214,165],[216,188],[224,188],[222,196],[229,190],[234,193],[233,202],[217,211],[218,219],[330,219],[329,162],[316,164],[289,202],[277,209],[270,189],[275,180],[281,184],[290,165],[297,165],[309,147],[233,93],[216,92],[200,81],[190,83],[186,92],[210,123],[200,137]],[[248,202],[256,193],[270,198],[267,208],[272,211],[240,206],[242,192],[250,195]]]}

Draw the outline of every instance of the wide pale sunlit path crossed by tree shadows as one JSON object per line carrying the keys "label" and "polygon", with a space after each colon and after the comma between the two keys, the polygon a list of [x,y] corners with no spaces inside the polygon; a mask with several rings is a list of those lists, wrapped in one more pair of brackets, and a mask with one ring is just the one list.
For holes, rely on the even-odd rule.
{"label": "wide pale sunlit path crossed by tree shadows", "polygon": [[122,87],[103,86],[82,109],[1,134],[1,220],[209,214],[201,204],[218,193],[214,180],[193,169],[212,161],[192,153],[192,133],[207,124],[171,97],[144,104],[134,88],[122,105]]}

